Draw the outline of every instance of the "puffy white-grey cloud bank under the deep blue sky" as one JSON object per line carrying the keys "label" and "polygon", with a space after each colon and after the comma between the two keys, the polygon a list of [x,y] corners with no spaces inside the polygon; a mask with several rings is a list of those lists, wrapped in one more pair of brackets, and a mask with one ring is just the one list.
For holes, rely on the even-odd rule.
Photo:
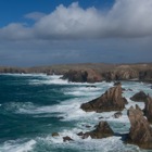
{"label": "puffy white-grey cloud bank under the deep blue sky", "polygon": [[103,12],[96,8],[83,9],[77,2],[69,7],[59,5],[50,14],[34,12],[26,24],[11,23],[0,28],[0,39],[61,40],[139,38],[152,36],[152,0],[116,0]]}

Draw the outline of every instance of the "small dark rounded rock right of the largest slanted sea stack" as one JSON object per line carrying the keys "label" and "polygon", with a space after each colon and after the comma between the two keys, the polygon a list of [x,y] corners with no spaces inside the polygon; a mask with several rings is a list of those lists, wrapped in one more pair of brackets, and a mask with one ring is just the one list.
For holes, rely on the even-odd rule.
{"label": "small dark rounded rock right of the largest slanted sea stack", "polygon": [[136,93],[135,96],[132,96],[130,98],[130,100],[138,101],[138,102],[139,101],[145,102],[147,101],[147,98],[148,98],[148,96],[143,91],[140,91],[140,92]]}

